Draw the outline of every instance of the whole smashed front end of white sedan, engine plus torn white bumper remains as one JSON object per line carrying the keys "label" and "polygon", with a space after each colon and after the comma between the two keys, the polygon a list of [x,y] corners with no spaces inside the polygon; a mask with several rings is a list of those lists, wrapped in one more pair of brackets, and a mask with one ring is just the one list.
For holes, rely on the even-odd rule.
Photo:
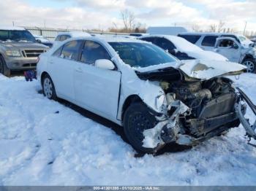
{"label": "whole smashed front end of white sedan, engine plus torn white bumper remains", "polygon": [[166,98],[165,117],[159,117],[155,128],[144,130],[143,147],[157,149],[170,142],[192,146],[240,124],[236,105],[241,106],[244,117],[246,104],[241,104],[241,96],[232,80],[225,77],[204,81],[185,79],[172,69],[158,72],[172,75],[138,74],[140,78],[158,81]]}

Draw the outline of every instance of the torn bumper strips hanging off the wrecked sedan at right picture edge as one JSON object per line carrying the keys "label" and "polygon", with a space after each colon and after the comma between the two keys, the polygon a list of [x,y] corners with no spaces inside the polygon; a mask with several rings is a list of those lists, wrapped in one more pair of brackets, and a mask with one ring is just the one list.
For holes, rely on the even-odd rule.
{"label": "torn bumper strips hanging off the wrecked sedan at right picture edge", "polygon": [[[241,99],[246,102],[246,104],[252,109],[252,112],[256,116],[256,106],[252,103],[252,101],[248,98],[248,96],[239,88],[237,87],[238,92],[241,95]],[[238,115],[239,120],[241,121],[241,124],[244,126],[244,129],[246,130],[246,136],[249,137],[249,139],[253,138],[256,139],[256,120],[253,123],[253,125],[250,125],[249,120],[246,119],[241,111],[241,104],[236,104],[236,114]]]}

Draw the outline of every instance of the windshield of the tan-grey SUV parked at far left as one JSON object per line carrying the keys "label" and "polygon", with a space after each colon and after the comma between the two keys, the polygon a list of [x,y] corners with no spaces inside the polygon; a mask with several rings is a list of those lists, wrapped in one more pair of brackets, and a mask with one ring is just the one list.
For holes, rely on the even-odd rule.
{"label": "windshield of the tan-grey SUV parked at far left", "polygon": [[0,30],[0,40],[1,41],[29,41],[35,42],[34,36],[29,31],[8,31]]}

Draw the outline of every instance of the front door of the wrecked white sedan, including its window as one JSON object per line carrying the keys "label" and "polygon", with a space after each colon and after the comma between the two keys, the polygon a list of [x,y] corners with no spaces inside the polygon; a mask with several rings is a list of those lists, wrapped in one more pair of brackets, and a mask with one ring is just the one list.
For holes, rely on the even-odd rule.
{"label": "front door of the wrecked white sedan, including its window", "polygon": [[110,58],[99,42],[86,40],[83,43],[80,62],[75,66],[75,98],[91,112],[116,120],[121,72],[94,66],[97,60]]}

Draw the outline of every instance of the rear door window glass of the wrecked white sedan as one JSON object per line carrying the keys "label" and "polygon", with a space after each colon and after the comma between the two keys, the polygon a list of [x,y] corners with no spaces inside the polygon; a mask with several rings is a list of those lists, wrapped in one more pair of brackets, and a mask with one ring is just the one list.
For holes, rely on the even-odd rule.
{"label": "rear door window glass of the wrecked white sedan", "polygon": [[75,40],[64,44],[64,47],[61,51],[61,58],[77,61],[81,43],[81,41]]}

